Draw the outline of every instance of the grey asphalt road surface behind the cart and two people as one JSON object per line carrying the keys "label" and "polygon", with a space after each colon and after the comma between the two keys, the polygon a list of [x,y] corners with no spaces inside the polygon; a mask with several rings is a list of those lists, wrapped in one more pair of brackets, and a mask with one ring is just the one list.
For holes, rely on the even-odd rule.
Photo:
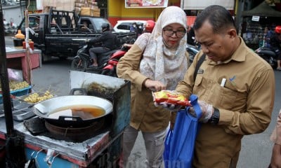
{"label": "grey asphalt road surface behind the cart and two people", "polygon": [[[11,38],[6,37],[6,45],[11,45]],[[53,90],[58,96],[67,95],[70,91],[70,62],[71,59],[53,60],[46,62],[39,69],[32,71],[32,83],[34,90]],[[281,71],[275,71],[275,106],[272,122],[268,129],[261,134],[247,135],[242,139],[242,151],[237,167],[239,168],[264,168],[268,166],[273,144],[269,141],[270,134],[276,123],[277,113],[281,108]],[[134,168],[144,167],[145,151],[141,134],[131,153],[131,162]]]}

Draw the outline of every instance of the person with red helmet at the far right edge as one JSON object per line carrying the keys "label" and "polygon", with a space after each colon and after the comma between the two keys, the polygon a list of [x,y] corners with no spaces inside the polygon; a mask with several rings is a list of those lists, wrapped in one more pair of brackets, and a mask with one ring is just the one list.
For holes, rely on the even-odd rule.
{"label": "person with red helmet at the far right edge", "polygon": [[277,55],[277,70],[281,71],[281,26],[275,27],[275,34],[270,38],[270,49]]}

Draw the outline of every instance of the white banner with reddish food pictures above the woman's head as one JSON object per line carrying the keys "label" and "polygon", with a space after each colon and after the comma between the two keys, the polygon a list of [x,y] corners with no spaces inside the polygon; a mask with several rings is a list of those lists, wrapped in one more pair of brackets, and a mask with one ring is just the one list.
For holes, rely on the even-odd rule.
{"label": "white banner with reddish food pictures above the woman's head", "polygon": [[125,0],[125,8],[165,8],[168,0]]}

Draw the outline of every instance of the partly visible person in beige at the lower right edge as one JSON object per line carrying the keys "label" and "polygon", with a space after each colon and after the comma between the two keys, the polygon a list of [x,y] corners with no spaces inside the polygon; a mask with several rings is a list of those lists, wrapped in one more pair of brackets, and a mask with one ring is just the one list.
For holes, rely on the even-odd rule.
{"label": "partly visible person in beige at the lower right edge", "polygon": [[268,168],[280,168],[281,167],[281,109],[277,116],[276,127],[270,136],[270,140],[273,141],[274,145],[273,145],[270,165]]}

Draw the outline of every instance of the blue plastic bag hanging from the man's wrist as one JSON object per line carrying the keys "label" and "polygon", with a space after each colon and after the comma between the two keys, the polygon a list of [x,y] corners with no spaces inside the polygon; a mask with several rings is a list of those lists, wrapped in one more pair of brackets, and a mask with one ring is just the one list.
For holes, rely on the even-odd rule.
{"label": "blue plastic bag hanging from the man's wrist", "polygon": [[197,103],[197,96],[190,96],[190,103],[196,117],[188,113],[189,107],[178,111],[174,130],[169,130],[165,139],[164,165],[169,168],[190,168],[195,148],[195,139],[200,128],[198,123],[202,112]]}

